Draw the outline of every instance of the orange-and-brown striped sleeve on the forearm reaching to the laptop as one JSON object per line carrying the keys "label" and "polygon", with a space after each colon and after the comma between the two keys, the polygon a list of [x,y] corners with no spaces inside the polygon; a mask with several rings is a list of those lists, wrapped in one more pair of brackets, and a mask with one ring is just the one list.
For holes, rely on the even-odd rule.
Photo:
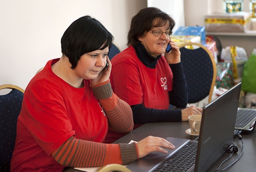
{"label": "orange-and-brown striped sleeve on the forearm reaching to the laptop", "polygon": [[137,145],[104,144],[71,137],[52,156],[67,167],[102,167],[111,163],[126,165],[137,159]]}

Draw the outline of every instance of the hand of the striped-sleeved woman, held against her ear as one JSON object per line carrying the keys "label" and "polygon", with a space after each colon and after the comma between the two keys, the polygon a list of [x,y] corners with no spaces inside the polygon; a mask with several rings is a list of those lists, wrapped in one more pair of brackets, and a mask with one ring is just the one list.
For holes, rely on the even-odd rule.
{"label": "hand of the striped-sleeved woman, held against her ear", "polygon": [[105,69],[102,69],[102,71],[98,74],[97,78],[91,80],[91,85],[97,85],[105,81],[108,81],[111,73],[111,69],[112,69],[112,64],[108,56],[107,56],[107,62],[108,62],[108,67],[106,67]]}

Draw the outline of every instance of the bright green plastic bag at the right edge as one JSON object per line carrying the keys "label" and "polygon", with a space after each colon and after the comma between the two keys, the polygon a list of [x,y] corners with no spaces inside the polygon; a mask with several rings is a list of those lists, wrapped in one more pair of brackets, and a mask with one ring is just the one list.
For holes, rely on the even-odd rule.
{"label": "bright green plastic bag at the right edge", "polygon": [[256,93],[256,49],[254,49],[243,67],[241,90]]}

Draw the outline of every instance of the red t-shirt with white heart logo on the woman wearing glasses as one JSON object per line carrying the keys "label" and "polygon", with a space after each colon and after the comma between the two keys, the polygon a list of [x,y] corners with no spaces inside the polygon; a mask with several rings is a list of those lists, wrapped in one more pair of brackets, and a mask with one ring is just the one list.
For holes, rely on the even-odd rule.
{"label": "red t-shirt with white heart logo on the woman wearing glasses", "polygon": [[143,103],[147,108],[169,108],[168,92],[173,89],[173,73],[164,56],[158,60],[156,68],[151,69],[137,58],[135,49],[130,46],[111,63],[110,82],[119,98],[129,105]]}

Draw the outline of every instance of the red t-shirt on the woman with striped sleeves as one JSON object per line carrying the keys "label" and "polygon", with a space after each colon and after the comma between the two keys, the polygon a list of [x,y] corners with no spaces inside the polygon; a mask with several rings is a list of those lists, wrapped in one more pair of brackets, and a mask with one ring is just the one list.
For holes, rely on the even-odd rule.
{"label": "red t-shirt on the woman with striped sleeves", "polygon": [[52,152],[71,136],[102,142],[108,130],[108,119],[95,98],[89,80],[85,87],[74,88],[56,76],[51,69],[58,59],[50,60],[36,74],[24,93],[17,121],[17,138],[12,171],[62,171]]}

